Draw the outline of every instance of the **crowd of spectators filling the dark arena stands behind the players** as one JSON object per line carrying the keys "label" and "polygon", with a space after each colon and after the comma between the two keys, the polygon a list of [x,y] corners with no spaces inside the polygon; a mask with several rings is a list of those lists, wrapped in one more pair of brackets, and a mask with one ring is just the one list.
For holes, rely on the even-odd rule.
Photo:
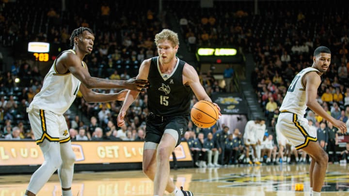
{"label": "crowd of spectators filling the dark arena stands behind the players", "polygon": [[[70,3],[74,5],[74,10],[70,10],[73,7],[71,5],[66,11],[55,7],[45,8],[46,10],[42,10],[45,13],[43,18],[49,21],[45,33],[36,32],[38,29],[28,30],[28,27],[25,27],[26,23],[16,24],[21,20],[15,18],[1,20],[2,17],[12,17],[2,9],[2,44],[8,46],[8,40],[13,40],[13,45],[16,45],[16,41],[25,42],[25,39],[28,39],[49,41],[56,44],[55,48],[68,48],[69,32],[79,26],[89,27],[94,30],[96,36],[94,52],[85,58],[91,75],[128,79],[135,76],[140,62],[157,55],[153,37],[162,28],[168,28],[168,13],[159,14],[154,6],[149,6],[143,1],[134,6],[140,2],[123,0],[96,4],[91,1],[80,4],[78,1],[72,1]],[[278,107],[283,101],[287,86],[297,72],[311,65],[312,52],[319,45],[327,45],[332,50],[332,64],[329,73],[324,75],[318,91],[318,101],[335,118],[348,120],[348,15],[338,12],[331,17],[320,17],[322,12],[319,10],[306,12],[298,9],[297,4],[292,2],[288,2],[290,6],[285,8],[285,12],[268,9],[268,5],[261,6],[261,10],[267,11],[261,12],[260,15],[254,15],[248,8],[250,2],[245,2],[243,6],[237,6],[234,10],[227,9],[228,2],[215,4],[212,9],[200,9],[191,1],[183,3],[188,3],[189,6],[181,6],[185,9],[177,9],[172,13],[178,19],[180,33],[186,38],[191,52],[198,46],[238,45],[241,51],[254,54],[256,69],[251,75],[251,82],[255,85],[260,105],[264,108],[267,126],[275,126]],[[164,6],[169,8],[172,5],[173,2],[166,1]],[[178,5],[171,9],[178,8]],[[272,6],[277,6],[277,2]],[[132,9],[128,9],[131,7]],[[187,12],[188,9],[193,14]],[[274,21],[274,15],[279,15],[280,20]],[[71,16],[74,19],[68,20]],[[314,24],[319,18],[326,26]],[[310,26],[305,26],[307,24]],[[199,71],[199,76],[209,95],[224,91],[224,87],[219,85],[211,70],[207,73]],[[15,82],[16,78],[20,78],[18,83]],[[9,72],[1,74],[0,80],[0,137],[33,139],[25,108],[42,85],[43,77],[39,74],[38,67],[27,61],[16,61]],[[96,91],[108,93],[115,90]],[[196,101],[193,96],[191,105]],[[130,106],[125,118],[127,123],[123,127],[115,125],[121,102],[86,103],[81,93],[78,93],[74,104],[90,122],[81,121],[79,115],[71,116],[69,112],[66,113],[72,140],[144,139],[145,118],[149,113],[146,92],[140,93]],[[310,113],[308,112],[307,118],[313,118],[315,127],[322,130],[320,123],[324,120],[316,114],[312,117]],[[327,123],[325,125],[327,126]],[[17,130],[19,134],[16,133]],[[270,135],[276,137],[273,131]],[[232,127],[213,126],[210,129],[200,129],[190,122],[189,131],[182,139],[190,144],[196,166],[244,162],[243,158],[240,158],[246,152],[242,134]],[[264,139],[270,137],[265,136]],[[329,141],[325,141],[324,147],[328,143]]]}

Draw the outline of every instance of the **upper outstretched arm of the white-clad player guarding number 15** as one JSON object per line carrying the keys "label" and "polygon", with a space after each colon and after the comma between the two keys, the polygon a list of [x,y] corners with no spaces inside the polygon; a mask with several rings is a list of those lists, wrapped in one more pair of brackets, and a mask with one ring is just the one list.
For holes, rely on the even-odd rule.
{"label": "upper outstretched arm of the white-clad player guarding number 15", "polygon": [[69,70],[81,83],[88,89],[129,89],[141,91],[148,84],[145,80],[109,80],[97,77],[92,77],[86,68],[82,67],[81,60],[73,53],[66,52],[62,54],[56,62],[56,66],[61,64],[66,70]]}

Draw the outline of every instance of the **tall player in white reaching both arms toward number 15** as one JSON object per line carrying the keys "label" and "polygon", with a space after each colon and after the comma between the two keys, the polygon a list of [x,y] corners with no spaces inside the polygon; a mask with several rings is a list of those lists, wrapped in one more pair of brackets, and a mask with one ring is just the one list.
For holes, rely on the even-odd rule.
{"label": "tall player in white reaching both arms toward number 15", "polygon": [[82,59],[91,54],[94,40],[92,30],[88,28],[80,27],[73,31],[70,37],[73,49],[57,56],[45,76],[42,89],[27,108],[36,143],[45,161],[32,175],[25,196],[35,196],[57,169],[62,195],[72,196],[75,154],[63,113],[75,100],[78,90],[87,102],[122,101],[128,90],[103,94],[91,89],[126,88],[140,91],[148,84],[146,80],[122,81],[92,77]]}

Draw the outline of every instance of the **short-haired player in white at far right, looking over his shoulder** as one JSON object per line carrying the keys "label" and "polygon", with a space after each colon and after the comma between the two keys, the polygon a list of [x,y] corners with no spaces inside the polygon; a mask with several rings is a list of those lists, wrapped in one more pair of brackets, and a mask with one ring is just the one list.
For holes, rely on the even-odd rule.
{"label": "short-haired player in white at far right, looking over his shoulder", "polygon": [[295,146],[312,157],[310,163],[311,196],[320,196],[321,187],[326,175],[328,155],[318,144],[316,136],[309,134],[308,121],[304,118],[305,109],[309,107],[342,133],[347,132],[346,124],[335,120],[317,103],[317,88],[321,84],[321,75],[331,63],[331,51],[319,46],[314,51],[313,65],[299,72],[291,82],[285,99],[280,107],[277,129]]}

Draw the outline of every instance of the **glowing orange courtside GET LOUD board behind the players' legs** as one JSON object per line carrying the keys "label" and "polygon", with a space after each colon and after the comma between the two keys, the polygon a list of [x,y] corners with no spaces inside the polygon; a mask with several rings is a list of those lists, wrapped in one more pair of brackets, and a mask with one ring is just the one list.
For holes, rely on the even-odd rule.
{"label": "glowing orange courtside GET LOUD board behind the players' legs", "polygon": [[[75,164],[141,163],[144,142],[72,142]],[[191,161],[187,142],[174,150],[177,161]],[[172,156],[170,157],[172,160]],[[43,154],[34,141],[0,141],[0,166],[41,165]]]}

